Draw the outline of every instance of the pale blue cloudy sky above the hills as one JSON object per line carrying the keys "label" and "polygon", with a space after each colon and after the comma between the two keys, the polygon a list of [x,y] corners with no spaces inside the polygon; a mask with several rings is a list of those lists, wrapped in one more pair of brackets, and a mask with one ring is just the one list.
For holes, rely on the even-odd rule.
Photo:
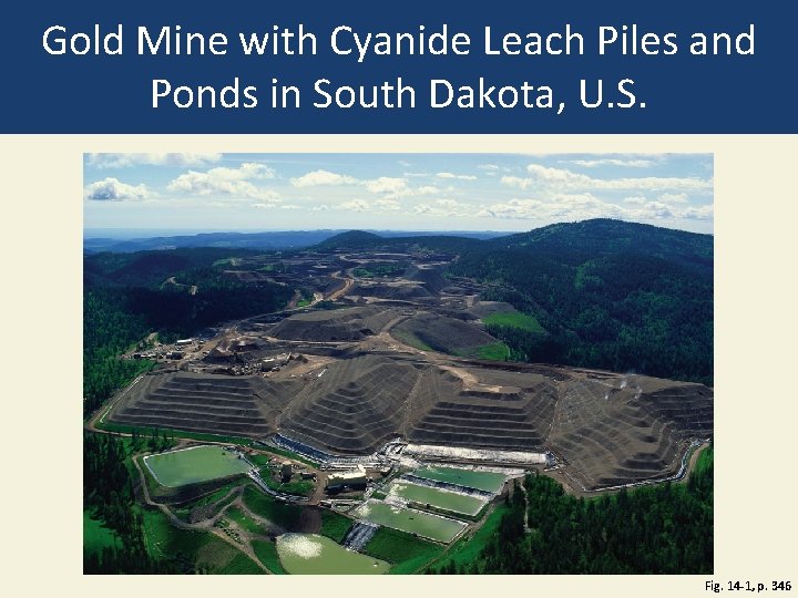
{"label": "pale blue cloudy sky above the hills", "polygon": [[708,154],[86,154],[85,228],[713,231]]}

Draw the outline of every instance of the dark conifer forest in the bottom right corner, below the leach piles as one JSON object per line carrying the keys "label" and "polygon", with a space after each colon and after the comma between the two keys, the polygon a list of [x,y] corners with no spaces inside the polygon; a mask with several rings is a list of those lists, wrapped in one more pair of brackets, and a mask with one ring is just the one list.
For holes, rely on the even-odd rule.
{"label": "dark conifer forest in the bottom right corner, below the leach piles", "polygon": [[[438,574],[710,574],[713,450],[686,484],[665,482],[577,498],[543,475],[516,486],[499,532],[472,563]],[[524,528],[524,512],[528,528]]]}

